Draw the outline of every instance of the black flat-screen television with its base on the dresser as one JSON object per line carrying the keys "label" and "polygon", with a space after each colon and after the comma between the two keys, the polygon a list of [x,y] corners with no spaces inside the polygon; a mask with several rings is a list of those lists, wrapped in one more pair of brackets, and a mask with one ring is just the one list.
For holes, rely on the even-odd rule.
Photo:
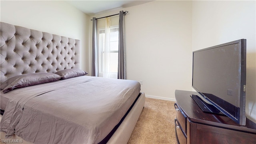
{"label": "black flat-screen television with its base on the dresser", "polygon": [[193,52],[191,97],[204,112],[224,114],[244,126],[246,39]]}

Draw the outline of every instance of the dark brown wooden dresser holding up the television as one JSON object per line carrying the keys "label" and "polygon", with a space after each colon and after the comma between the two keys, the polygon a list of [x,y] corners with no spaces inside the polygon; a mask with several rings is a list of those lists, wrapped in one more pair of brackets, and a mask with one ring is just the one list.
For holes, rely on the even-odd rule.
{"label": "dark brown wooden dresser holding up the television", "polygon": [[240,126],[220,114],[203,112],[193,95],[197,92],[176,90],[175,131],[178,144],[256,144],[256,124],[246,119]]}

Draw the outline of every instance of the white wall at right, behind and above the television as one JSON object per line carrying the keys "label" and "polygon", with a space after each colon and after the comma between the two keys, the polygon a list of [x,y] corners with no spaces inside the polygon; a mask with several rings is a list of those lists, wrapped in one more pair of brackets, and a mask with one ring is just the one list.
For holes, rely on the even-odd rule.
{"label": "white wall at right, behind and above the television", "polygon": [[256,1],[193,1],[192,50],[247,40],[246,116],[256,122]]}

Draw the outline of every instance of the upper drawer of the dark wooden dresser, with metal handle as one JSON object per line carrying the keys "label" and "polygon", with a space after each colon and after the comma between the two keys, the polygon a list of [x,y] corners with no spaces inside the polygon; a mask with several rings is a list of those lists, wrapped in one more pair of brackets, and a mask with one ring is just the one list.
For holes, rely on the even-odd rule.
{"label": "upper drawer of the dark wooden dresser, with metal handle", "polygon": [[187,134],[187,117],[183,112],[180,110],[178,104],[174,104],[174,108],[176,109],[176,118],[180,124],[180,127],[184,134]]}

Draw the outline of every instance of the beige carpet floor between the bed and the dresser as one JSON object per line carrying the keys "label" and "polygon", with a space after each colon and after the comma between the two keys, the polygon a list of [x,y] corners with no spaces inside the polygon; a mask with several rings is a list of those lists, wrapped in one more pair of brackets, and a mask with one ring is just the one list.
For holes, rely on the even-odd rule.
{"label": "beige carpet floor between the bed and the dresser", "polygon": [[174,102],[146,98],[128,144],[177,144]]}

